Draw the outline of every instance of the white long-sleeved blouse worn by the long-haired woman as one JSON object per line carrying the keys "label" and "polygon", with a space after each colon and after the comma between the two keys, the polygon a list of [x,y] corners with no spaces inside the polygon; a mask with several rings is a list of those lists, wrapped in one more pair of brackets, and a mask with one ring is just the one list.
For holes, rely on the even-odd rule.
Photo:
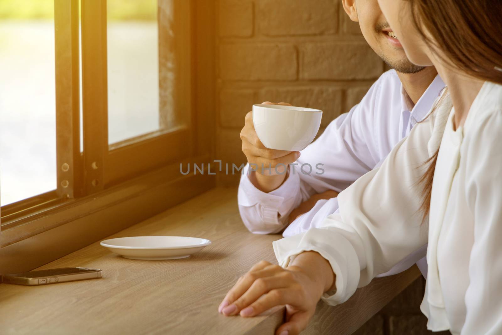
{"label": "white long-sleeved blouse worn by the long-haired woman", "polygon": [[[336,305],[428,243],[421,304],[428,329],[500,334],[502,85],[485,82],[456,131],[445,94],[379,169],[338,195],[338,213],[327,216],[321,228],[275,241],[274,251],[282,267],[303,251],[326,258],[336,290],[321,299]],[[439,143],[427,225],[418,180]]]}

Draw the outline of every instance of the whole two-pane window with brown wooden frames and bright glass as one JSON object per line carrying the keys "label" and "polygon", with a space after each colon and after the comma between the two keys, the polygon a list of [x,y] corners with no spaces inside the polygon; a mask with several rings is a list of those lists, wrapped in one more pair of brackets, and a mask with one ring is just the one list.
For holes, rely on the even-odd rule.
{"label": "whole two-pane window with brown wooden frames and bright glass", "polygon": [[[30,153],[22,155],[25,161],[10,158],[17,167],[6,171],[18,173],[16,182],[4,173],[4,162],[13,152],[23,151],[22,146],[14,135],[2,132],[0,248],[50,229],[34,223],[41,217],[59,215],[124,182],[207,156],[212,150],[213,128],[208,123],[214,118],[213,93],[204,85],[214,78],[213,19],[204,17],[211,12],[210,4],[199,0],[22,2],[23,6],[14,6],[18,0],[0,3],[0,16],[19,7],[40,13],[37,29],[31,29],[29,21],[18,26],[0,24],[0,33],[26,25],[27,40],[18,42],[31,48],[17,51],[27,57],[30,72],[13,63],[19,56],[0,51],[0,59],[13,64],[0,70],[8,71],[1,73],[0,100],[4,101],[4,94],[10,99],[0,102],[7,104],[1,109],[11,120],[16,121],[13,115],[24,117],[17,121],[29,133],[23,141],[29,147],[24,152]],[[161,177],[180,176],[173,172]],[[54,225],[71,219],[58,216]]]}

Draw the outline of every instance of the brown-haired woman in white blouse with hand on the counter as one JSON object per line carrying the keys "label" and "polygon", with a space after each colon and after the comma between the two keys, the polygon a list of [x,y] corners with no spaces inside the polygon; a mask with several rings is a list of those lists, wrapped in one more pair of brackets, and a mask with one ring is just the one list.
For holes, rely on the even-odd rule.
{"label": "brown-haired woman in white blouse with hand on the counter", "polygon": [[339,194],[339,213],[322,228],[274,242],[281,266],[256,264],[219,310],[253,316],[286,304],[287,322],[276,334],[296,335],[319,298],[346,301],[428,243],[421,304],[428,328],[500,334],[502,3],[379,3],[409,59],[433,64],[447,90],[380,169]]}

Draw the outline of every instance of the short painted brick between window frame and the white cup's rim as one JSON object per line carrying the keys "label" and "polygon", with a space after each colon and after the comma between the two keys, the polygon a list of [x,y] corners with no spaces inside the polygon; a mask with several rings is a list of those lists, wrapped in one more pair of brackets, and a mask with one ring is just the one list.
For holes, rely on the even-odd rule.
{"label": "short painted brick between window frame and the white cup's rim", "polygon": [[221,90],[219,100],[221,127],[242,129],[245,115],[253,109],[253,104],[260,102],[255,100],[255,92],[250,89]]}

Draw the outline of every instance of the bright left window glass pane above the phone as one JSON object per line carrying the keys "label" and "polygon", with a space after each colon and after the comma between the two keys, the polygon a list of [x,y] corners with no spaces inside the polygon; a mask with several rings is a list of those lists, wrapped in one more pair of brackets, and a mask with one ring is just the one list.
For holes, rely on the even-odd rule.
{"label": "bright left window glass pane above the phone", "polygon": [[53,0],[0,1],[0,204],[56,188]]}

